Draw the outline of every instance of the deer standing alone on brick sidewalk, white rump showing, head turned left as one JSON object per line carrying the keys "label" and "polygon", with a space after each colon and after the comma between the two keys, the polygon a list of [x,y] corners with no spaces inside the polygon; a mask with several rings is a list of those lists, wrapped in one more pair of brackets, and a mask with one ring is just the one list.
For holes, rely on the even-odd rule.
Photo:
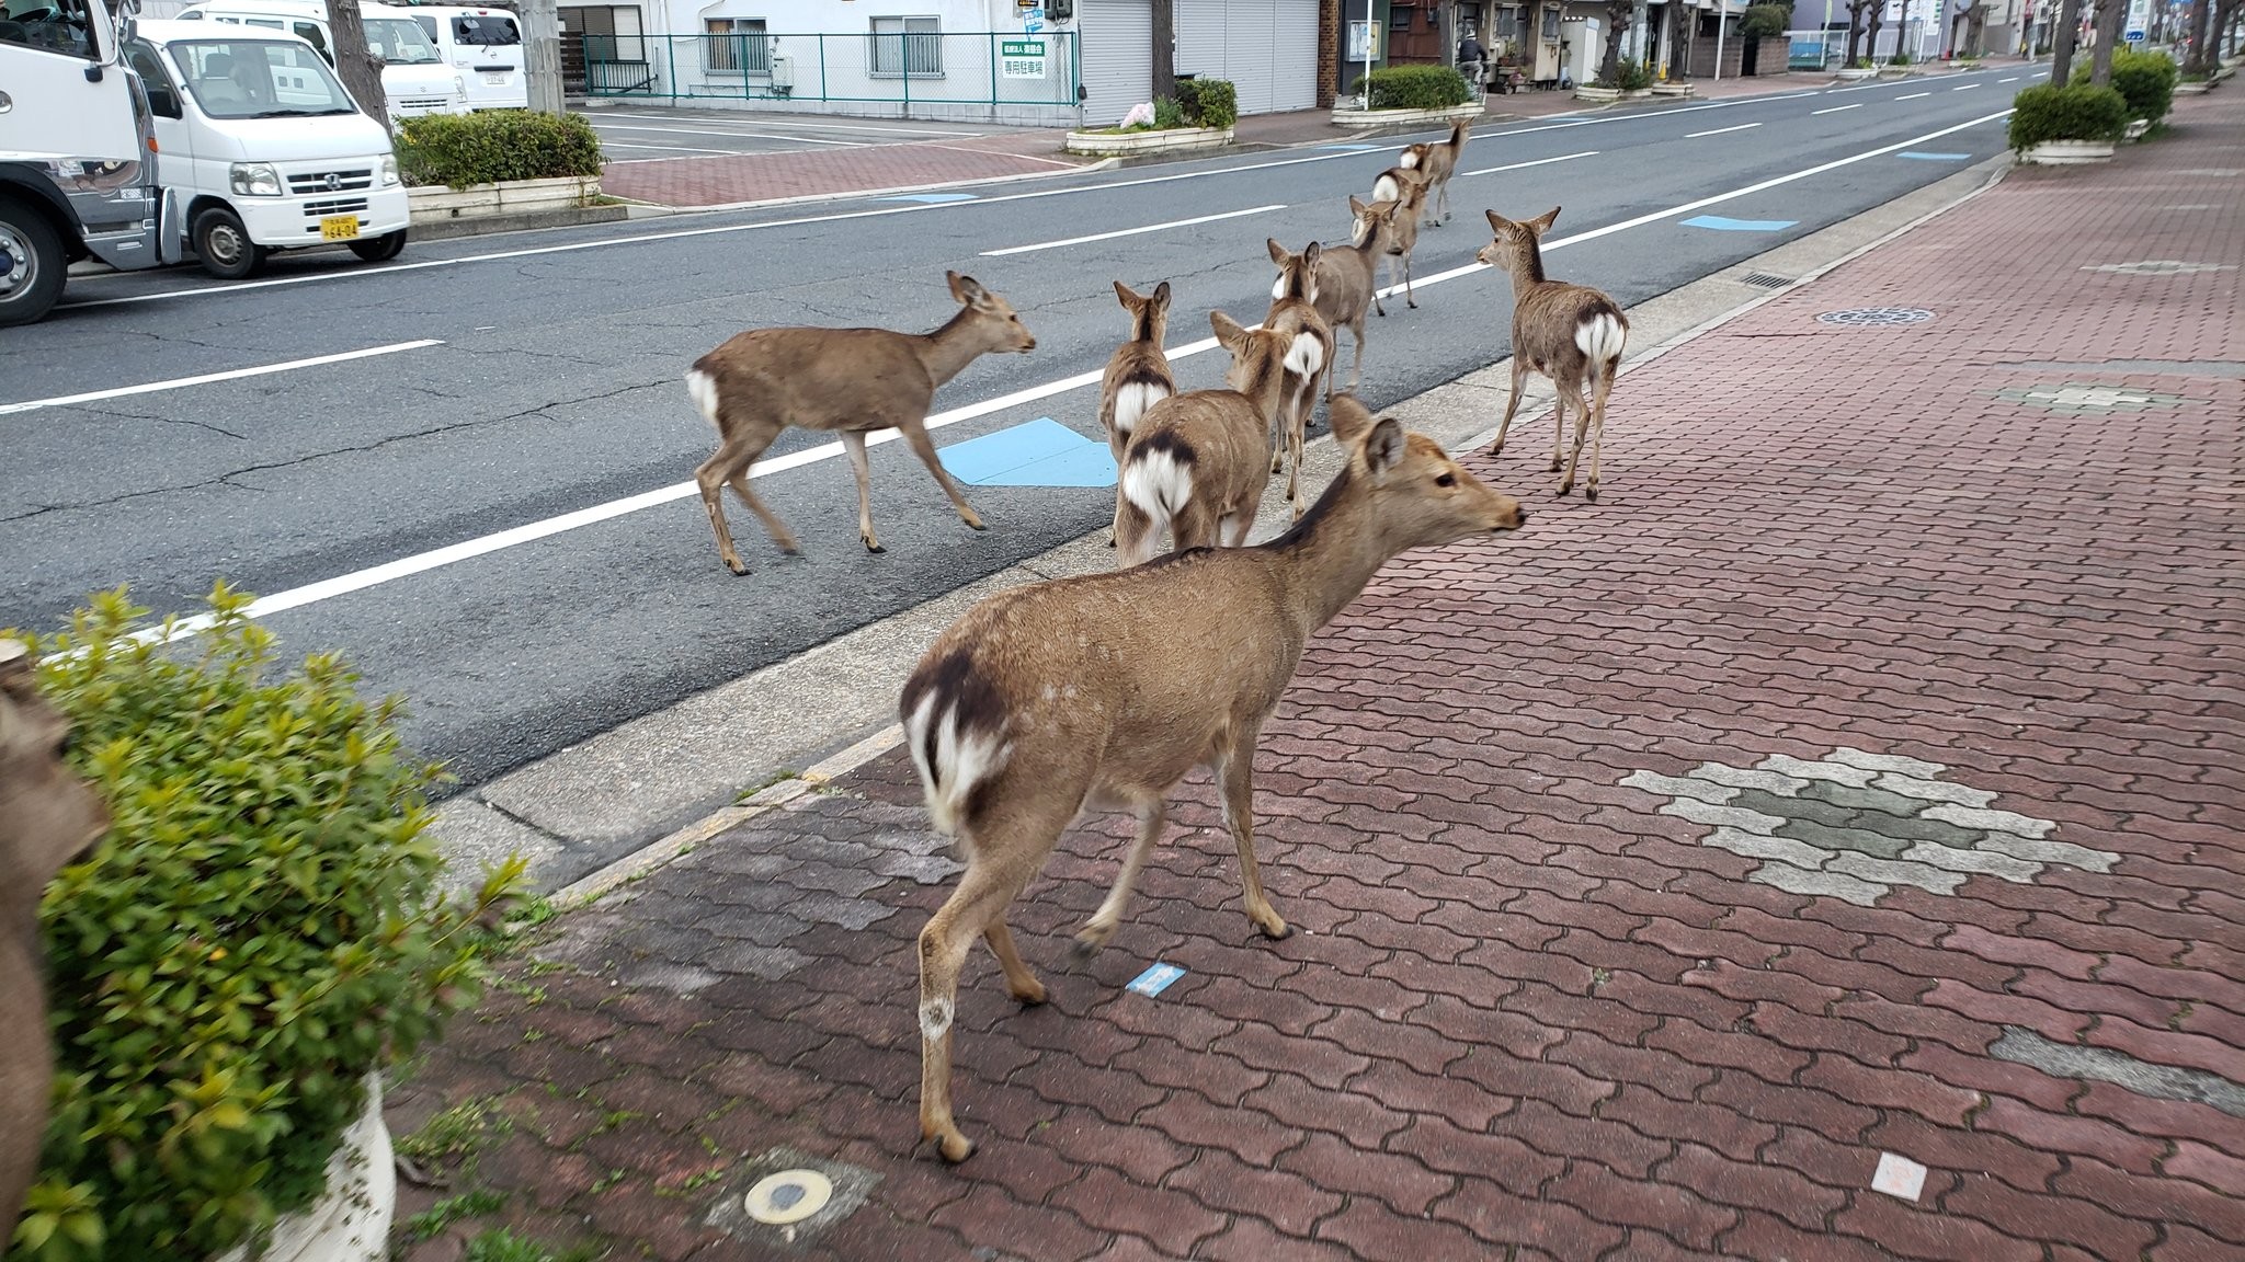
{"label": "deer standing alone on brick sidewalk, white rump showing, head turned left", "polygon": [[[1574,458],[1567,460],[1567,476],[1558,483],[1558,494],[1574,490],[1576,467],[1583,463],[1583,433],[1589,433],[1589,483],[1583,499],[1598,501],[1598,449],[1605,445],[1605,395],[1614,391],[1614,375],[1621,371],[1621,350],[1630,339],[1630,317],[1621,305],[1587,285],[1549,281],[1542,272],[1542,247],[1538,240],[1558,220],[1558,207],[1533,220],[1509,220],[1488,211],[1488,227],[1497,238],[1475,254],[1488,267],[1502,267],[1513,278],[1513,397],[1504,404],[1504,420],[1497,424],[1497,440],[1488,447],[1495,456],[1504,451],[1504,431],[1520,411],[1520,391],[1529,373],[1542,373],[1558,386],[1551,402],[1551,472],[1560,469],[1560,447],[1567,438],[1567,406],[1574,406]],[[1589,397],[1583,397],[1583,386]]]}

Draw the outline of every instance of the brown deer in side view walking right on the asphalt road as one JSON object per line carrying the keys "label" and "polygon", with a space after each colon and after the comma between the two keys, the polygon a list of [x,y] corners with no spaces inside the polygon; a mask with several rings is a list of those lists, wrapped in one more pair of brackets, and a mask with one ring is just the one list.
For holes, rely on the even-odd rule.
{"label": "brown deer in side view walking right on the asphalt road", "polygon": [[936,476],[959,519],[981,530],[981,516],[936,460],[927,440],[927,406],[936,386],[995,350],[1030,353],[1037,339],[1021,326],[1006,299],[983,290],[972,276],[945,272],[959,314],[936,332],[889,332],[887,328],[752,328],[703,355],[687,371],[687,393],[703,420],[716,427],[716,456],[694,469],[700,483],[716,555],[725,568],[745,575],[725,528],[723,487],[761,521],[781,552],[797,552],[795,534],[757,492],[748,490],[748,467],[779,433],[797,424],[842,436],[842,449],[858,472],[858,537],[867,552],[880,552],[873,537],[873,474],[864,460],[864,436],[898,429],[911,454]]}

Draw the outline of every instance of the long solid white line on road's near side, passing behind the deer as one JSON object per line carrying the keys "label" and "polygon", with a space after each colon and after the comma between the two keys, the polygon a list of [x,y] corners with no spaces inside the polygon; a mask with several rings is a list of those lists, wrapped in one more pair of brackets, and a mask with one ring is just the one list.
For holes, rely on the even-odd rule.
{"label": "long solid white line on road's near side, passing behind the deer", "polygon": [[[1906,141],[1897,141],[1897,144],[1870,148],[1870,150],[1863,150],[1863,153],[1857,153],[1857,155],[1850,155],[1850,157],[1839,157],[1839,159],[1832,159],[1832,162],[1823,162],[1818,166],[1794,171],[1789,175],[1776,175],[1776,177],[1762,180],[1758,184],[1747,184],[1744,189],[1733,189],[1729,193],[1715,193],[1711,198],[1699,198],[1695,202],[1684,202],[1682,207],[1668,207],[1664,211],[1652,211],[1648,216],[1637,216],[1634,220],[1621,220],[1616,225],[1607,225],[1607,227],[1601,227],[1601,229],[1578,231],[1574,236],[1565,236],[1565,238],[1558,238],[1558,240],[1547,240],[1547,243],[1542,243],[1542,249],[1545,252],[1565,249],[1569,245],[1578,245],[1578,243],[1585,243],[1585,240],[1596,240],[1601,236],[1612,236],[1616,231],[1630,231],[1630,229],[1637,229],[1637,227],[1643,227],[1643,225],[1650,225],[1650,222],[1659,222],[1659,220],[1668,220],[1668,218],[1675,218],[1675,216],[1684,216],[1684,213],[1697,211],[1702,207],[1713,207],[1717,202],[1731,202],[1735,198],[1751,198],[1753,193],[1762,193],[1762,191],[1776,189],[1780,184],[1792,184],[1794,180],[1807,180],[1812,175],[1823,175],[1825,171],[1839,171],[1841,166],[1852,166],[1857,162],[1868,162],[1872,157],[1881,157],[1881,155],[1888,155],[1888,153],[1895,153],[1895,150],[1904,150],[1904,148],[1910,148],[1910,146],[1926,144],[1931,139],[1940,139],[1944,135],[1953,135],[1953,132],[1960,132],[1960,130],[1967,130],[1967,128],[1976,128],[1980,124],[1996,121],[1996,119],[2000,119],[2000,117],[2005,117],[2009,112],[2012,110],[2000,110],[2000,112],[1994,112],[1994,115],[1982,115],[1982,117],[1978,117],[1978,119],[1973,119],[1969,124],[1958,124],[1958,126],[1951,126],[1951,128],[1942,128],[1937,132],[1926,132],[1926,135],[1919,135],[1919,137],[1910,137]],[[1349,157],[1354,157],[1354,155],[1349,155]],[[1453,267],[1450,272],[1441,272],[1441,274],[1435,274],[1435,276],[1419,278],[1417,287],[1439,285],[1444,281],[1455,281],[1459,276],[1470,276],[1475,272],[1486,272],[1486,267],[1482,267],[1479,263],[1468,263],[1466,267]],[[1387,294],[1401,294],[1401,292],[1403,292],[1401,285],[1392,285],[1387,290],[1381,290],[1383,296],[1387,296]],[[1215,348],[1217,348],[1217,339],[1215,337],[1203,337],[1201,341],[1192,341],[1192,344],[1179,346],[1174,350],[1167,350],[1167,357],[1174,364],[1176,359],[1188,359],[1192,355],[1203,355],[1203,353],[1215,350]],[[1093,368],[1091,373],[1075,373],[1073,377],[1060,377],[1057,382],[1046,382],[1042,386],[1028,386],[1026,391],[1015,391],[1010,395],[999,395],[995,400],[983,400],[983,402],[977,402],[977,404],[965,404],[965,406],[959,406],[959,409],[952,409],[952,411],[943,411],[943,413],[936,413],[936,415],[927,418],[927,429],[943,429],[947,424],[959,424],[963,420],[974,420],[979,415],[990,415],[990,413],[1006,411],[1010,406],[1019,406],[1019,404],[1026,404],[1026,402],[1046,400],[1046,397],[1053,397],[1053,395],[1064,395],[1069,391],[1093,386],[1093,384],[1100,382],[1102,373],[1105,373],[1105,368]],[[864,445],[867,447],[878,447],[882,442],[896,442],[898,438],[900,438],[898,431],[885,429],[880,433],[869,433],[867,440],[864,440]],[[842,445],[840,442],[826,442],[822,447],[806,447],[801,451],[790,451],[786,456],[775,456],[770,460],[759,460],[748,472],[748,476],[750,478],[766,478],[766,476],[772,476],[772,474],[784,474],[788,469],[799,469],[804,465],[817,465],[819,460],[833,460],[835,456],[842,456]],[[665,505],[665,503],[680,501],[680,499],[696,496],[696,494],[700,494],[700,487],[694,481],[671,483],[667,487],[658,487],[658,490],[642,492],[642,494],[635,494],[635,496],[626,496],[626,499],[617,499],[617,501],[608,501],[608,503],[597,503],[593,507],[581,507],[577,512],[566,512],[561,516],[548,516],[546,521],[532,521],[528,525],[516,525],[512,530],[501,530],[501,532],[494,532],[494,534],[483,534],[478,539],[465,539],[460,543],[451,543],[447,548],[436,548],[431,552],[418,552],[413,557],[400,557],[400,559],[382,564],[382,566],[370,566],[370,568],[364,568],[364,570],[352,570],[348,575],[337,575],[332,579],[321,579],[317,584],[305,584],[305,586],[299,586],[299,588],[287,588],[287,591],[260,597],[256,604],[249,606],[249,613],[251,615],[267,615],[267,613],[281,613],[285,609],[301,609],[305,604],[317,604],[321,600],[332,600],[337,595],[348,595],[348,593],[355,593],[355,591],[366,591],[370,586],[379,586],[379,584],[386,584],[386,582],[393,582],[393,579],[402,579],[402,577],[409,577],[409,575],[420,575],[420,573],[427,573],[427,570],[436,570],[436,568],[449,566],[453,561],[467,561],[471,557],[483,557],[483,555],[489,555],[489,552],[498,552],[503,548],[516,548],[521,543],[530,543],[530,541],[537,541],[537,539],[546,539],[546,537],[561,534],[561,532],[568,532],[568,530],[577,530],[581,525],[593,525],[593,523],[599,523],[599,521],[613,521],[617,516],[626,516],[626,514],[640,512],[644,507]],[[177,633],[195,635],[195,633],[207,631],[211,627],[211,618],[209,615],[182,618],[182,620],[173,622],[173,627],[175,627]],[[162,638],[162,629],[159,627],[150,627],[150,629],[141,631],[139,638],[141,640],[157,640],[157,638]]]}

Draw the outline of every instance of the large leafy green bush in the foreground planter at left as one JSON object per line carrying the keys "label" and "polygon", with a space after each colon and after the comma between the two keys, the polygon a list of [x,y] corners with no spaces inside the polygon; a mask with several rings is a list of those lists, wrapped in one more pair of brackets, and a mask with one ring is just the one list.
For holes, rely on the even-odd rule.
{"label": "large leafy green bush in the foreground planter at left", "polygon": [[224,584],[200,638],[97,595],[38,683],[110,806],[40,903],[54,1118],[7,1262],[209,1258],[319,1197],[368,1071],[474,1002],[510,862],[438,894],[438,770],[397,703],[274,638]]}

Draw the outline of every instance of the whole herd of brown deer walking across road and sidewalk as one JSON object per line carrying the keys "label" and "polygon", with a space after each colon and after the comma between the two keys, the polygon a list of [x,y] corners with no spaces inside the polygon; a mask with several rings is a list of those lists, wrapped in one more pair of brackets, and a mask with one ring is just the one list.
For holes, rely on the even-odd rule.
{"label": "whole herd of brown deer walking across road and sidewalk", "polygon": [[[1417,308],[1410,258],[1421,227],[1448,222],[1450,177],[1466,124],[1448,141],[1412,144],[1383,171],[1372,200],[1349,198],[1347,245],[1289,252],[1268,243],[1277,278],[1264,321],[1246,328],[1210,312],[1230,353],[1221,388],[1179,391],[1163,350],[1170,283],[1138,294],[1116,281],[1129,314],[1100,377],[1100,427],[1116,460],[1111,546],[1118,568],[992,595],[952,624],[905,683],[905,746],[934,826],[954,838],[965,874],[920,932],[920,1134],[947,1161],[972,1150],[952,1118],[950,1051],[959,970],[974,939],[990,945],[1006,990],[1044,1002],[1006,927],[1006,912],[1087,808],[1125,808],[1138,833],[1107,898],[1075,936],[1078,959],[1100,950],[1122,921],[1131,885],[1165,824],[1165,799],[1194,768],[1210,768],[1224,822],[1239,851],[1248,921],[1271,939],[1286,921],[1264,898],[1255,867],[1255,746],[1293,678],[1311,633],[1347,606],[1387,559],[1410,548],[1518,530],[1520,503],[1482,485],[1441,447],[1376,420],[1354,395],[1363,379],[1365,314],[1385,317],[1401,276]],[[1585,499],[1598,496],[1605,400],[1628,319],[1605,294],[1549,281],[1540,236],[1558,209],[1533,220],[1488,211],[1495,238],[1477,260],[1513,287],[1513,386],[1491,454],[1520,409],[1527,375],[1558,386],[1551,472],[1574,490],[1589,442]],[[725,525],[732,487],[779,548],[795,537],[750,490],[750,465],[788,427],[828,429],[858,476],[858,534],[873,534],[867,433],[898,429],[974,530],[983,523],[945,474],[927,438],[936,386],[979,355],[1037,346],[1006,299],[952,272],[959,314],[927,335],[871,328],[761,328],[741,332],[687,373],[716,454],[696,469],[718,555],[748,573]],[[1334,391],[1336,330],[1354,341],[1349,386]],[[1320,393],[1343,469],[1304,505],[1304,431]],[[1563,463],[1565,413],[1574,454]],[[1293,525],[1246,546],[1264,490],[1286,472]],[[1161,555],[1161,539],[1170,539]]]}

